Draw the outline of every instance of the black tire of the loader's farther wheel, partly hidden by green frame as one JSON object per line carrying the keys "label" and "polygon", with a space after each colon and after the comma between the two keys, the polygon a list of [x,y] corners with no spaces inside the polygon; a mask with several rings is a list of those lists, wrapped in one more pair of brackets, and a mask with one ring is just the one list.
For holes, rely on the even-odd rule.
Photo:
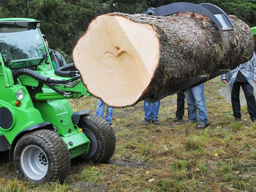
{"label": "black tire of the loader's farther wheel, partly hidden by green frame", "polygon": [[87,114],[80,120],[79,127],[83,129],[84,133],[85,129],[90,130],[97,140],[95,154],[91,158],[85,158],[83,155],[81,157],[86,161],[93,161],[94,163],[108,162],[116,148],[116,137],[110,124],[97,115]]}

